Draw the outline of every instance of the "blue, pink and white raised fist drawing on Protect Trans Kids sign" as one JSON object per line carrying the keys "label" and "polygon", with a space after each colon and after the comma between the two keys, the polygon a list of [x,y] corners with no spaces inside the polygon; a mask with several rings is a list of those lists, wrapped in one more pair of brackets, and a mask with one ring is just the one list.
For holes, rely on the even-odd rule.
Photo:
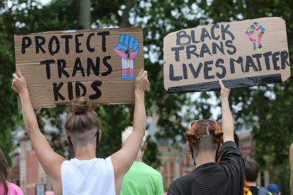
{"label": "blue, pink and white raised fist drawing on Protect Trans Kids sign", "polygon": [[139,54],[139,41],[131,35],[120,35],[113,51],[121,57],[121,79],[135,79],[133,61]]}

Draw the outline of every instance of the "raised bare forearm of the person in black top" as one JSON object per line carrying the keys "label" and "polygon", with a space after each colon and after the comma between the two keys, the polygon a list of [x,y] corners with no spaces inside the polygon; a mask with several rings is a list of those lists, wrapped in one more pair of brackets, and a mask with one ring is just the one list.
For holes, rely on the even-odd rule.
{"label": "raised bare forearm of the person in black top", "polygon": [[221,104],[222,104],[222,130],[223,141],[234,141],[234,122],[229,106],[229,93],[230,89],[225,88],[224,83],[220,80],[221,86]]}

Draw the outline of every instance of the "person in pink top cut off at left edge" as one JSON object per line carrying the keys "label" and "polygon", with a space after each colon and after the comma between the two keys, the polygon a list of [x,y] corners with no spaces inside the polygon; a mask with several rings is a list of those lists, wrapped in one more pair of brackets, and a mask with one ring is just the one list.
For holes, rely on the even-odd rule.
{"label": "person in pink top cut off at left edge", "polygon": [[0,194],[23,195],[23,191],[16,184],[6,181],[8,176],[8,164],[3,151],[0,148]]}

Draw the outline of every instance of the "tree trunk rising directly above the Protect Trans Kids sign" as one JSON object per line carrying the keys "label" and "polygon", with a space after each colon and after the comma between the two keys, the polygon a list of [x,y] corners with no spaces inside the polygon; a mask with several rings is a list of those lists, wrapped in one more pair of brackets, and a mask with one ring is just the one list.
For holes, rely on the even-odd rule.
{"label": "tree trunk rising directly above the Protect Trans Kids sign", "polygon": [[91,28],[91,0],[79,1],[79,16],[77,21],[84,29]]}

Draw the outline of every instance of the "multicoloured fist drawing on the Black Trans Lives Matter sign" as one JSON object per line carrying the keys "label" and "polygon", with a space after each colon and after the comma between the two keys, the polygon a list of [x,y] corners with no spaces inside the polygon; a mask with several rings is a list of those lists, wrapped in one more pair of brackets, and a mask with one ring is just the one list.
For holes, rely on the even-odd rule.
{"label": "multicoloured fist drawing on the Black Trans Lives Matter sign", "polygon": [[[251,37],[251,35],[253,35],[254,32],[255,32],[255,34],[256,34],[256,32],[259,32],[257,38]],[[263,37],[263,33],[265,33],[265,28],[263,28],[263,26],[257,22],[253,23],[253,25],[248,27],[247,30],[245,31],[245,34],[249,37],[249,40],[251,42],[253,42],[253,51],[263,50],[263,45],[261,45],[261,43],[260,43],[260,40]]]}

